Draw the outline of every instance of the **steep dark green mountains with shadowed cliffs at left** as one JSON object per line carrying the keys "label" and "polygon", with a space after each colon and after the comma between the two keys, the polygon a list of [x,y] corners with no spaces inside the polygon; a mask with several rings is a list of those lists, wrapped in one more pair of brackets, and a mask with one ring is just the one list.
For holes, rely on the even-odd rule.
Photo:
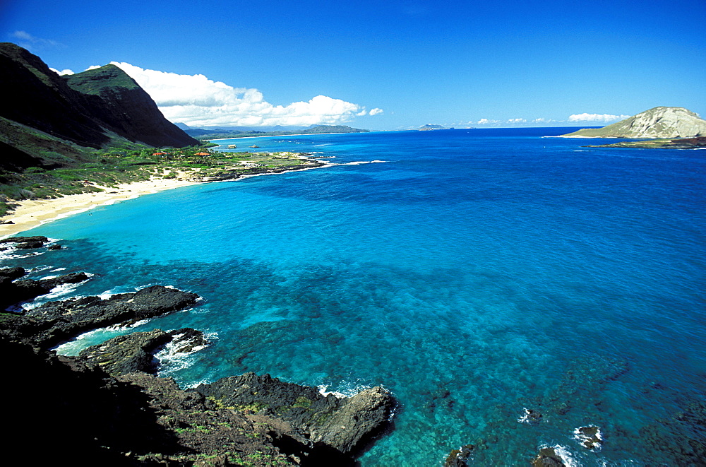
{"label": "steep dark green mountains with shadowed cliffs at left", "polygon": [[114,65],[59,76],[34,54],[0,43],[0,169],[65,167],[87,148],[126,143],[184,147],[199,141]]}

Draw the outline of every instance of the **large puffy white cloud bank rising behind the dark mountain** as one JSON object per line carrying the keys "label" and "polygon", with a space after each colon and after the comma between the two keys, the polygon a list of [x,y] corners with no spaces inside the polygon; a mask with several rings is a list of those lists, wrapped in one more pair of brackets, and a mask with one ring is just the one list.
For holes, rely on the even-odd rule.
{"label": "large puffy white cloud bank rising behind the dark mountain", "polygon": [[[172,122],[189,126],[274,126],[341,124],[366,110],[352,102],[317,95],[306,102],[273,105],[254,88],[234,88],[201,74],[180,75],[142,69],[128,63],[119,66],[157,102]],[[374,113],[373,113],[374,112]],[[379,114],[373,109],[369,114]]]}

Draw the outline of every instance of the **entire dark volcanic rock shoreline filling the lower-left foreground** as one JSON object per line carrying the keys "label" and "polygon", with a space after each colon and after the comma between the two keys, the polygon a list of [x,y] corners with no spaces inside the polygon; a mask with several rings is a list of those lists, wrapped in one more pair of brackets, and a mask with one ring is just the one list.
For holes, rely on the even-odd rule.
{"label": "entire dark volcanic rock shoreline filling the lower-left foreground", "polygon": [[[16,245],[48,240],[16,237]],[[197,305],[198,295],[161,285],[137,292],[21,305],[85,273],[22,279],[23,268],[0,269],[6,312],[0,351],[11,355],[3,387],[12,427],[10,464],[59,460],[111,466],[354,465],[390,429],[396,402],[377,386],[349,398],[246,373],[181,389],[155,376],[161,353],[191,353],[208,345],[196,329],[133,332],[81,351],[52,347],[85,331],[128,326]],[[21,290],[32,293],[20,293]],[[11,309],[12,311],[7,311]],[[28,436],[42,444],[20,449]]]}

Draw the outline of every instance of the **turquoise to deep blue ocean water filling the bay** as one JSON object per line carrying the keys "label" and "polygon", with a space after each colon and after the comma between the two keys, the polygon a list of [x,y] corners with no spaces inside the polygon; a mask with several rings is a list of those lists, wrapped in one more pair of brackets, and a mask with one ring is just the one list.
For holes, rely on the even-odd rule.
{"label": "turquoise to deep blue ocean water filling the bay", "polygon": [[[4,264],[95,274],[73,294],[198,292],[138,328],[212,336],[162,372],[183,386],[249,371],[383,384],[400,409],[364,466],[438,465],[469,443],[477,465],[527,465],[542,446],[586,466],[702,465],[706,151],[541,137],[567,131],[222,141],[385,162],[96,208],[28,232],[68,249]],[[524,408],[542,421],[518,422]],[[573,439],[585,425],[600,451]]]}

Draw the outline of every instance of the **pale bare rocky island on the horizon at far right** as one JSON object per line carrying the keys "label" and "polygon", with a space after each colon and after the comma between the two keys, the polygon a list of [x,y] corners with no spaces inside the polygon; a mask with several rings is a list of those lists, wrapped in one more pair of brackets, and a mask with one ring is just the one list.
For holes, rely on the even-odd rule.
{"label": "pale bare rocky island on the horizon at far right", "polygon": [[695,138],[706,136],[706,120],[683,107],[654,107],[603,128],[581,129],[565,138]]}

